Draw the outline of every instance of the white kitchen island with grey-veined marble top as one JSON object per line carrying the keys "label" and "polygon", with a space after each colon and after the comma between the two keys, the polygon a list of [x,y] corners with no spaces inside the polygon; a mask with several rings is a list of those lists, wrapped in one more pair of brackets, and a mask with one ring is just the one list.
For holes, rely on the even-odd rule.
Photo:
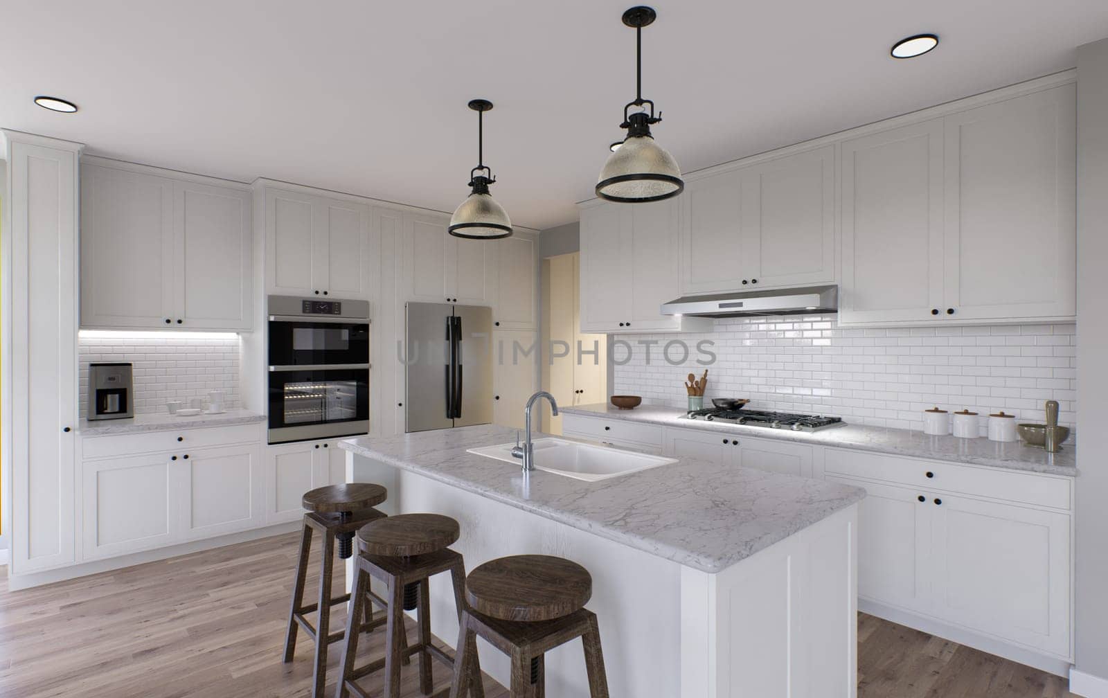
{"label": "white kitchen island with grey-veined marble top", "polygon": [[[466,427],[341,448],[348,480],[389,489],[388,513],[456,519],[470,569],[523,553],[584,565],[613,696],[855,694],[863,490],[688,458],[598,482],[524,478],[469,452],[515,434]],[[432,630],[452,644],[449,581],[432,579],[431,595]],[[480,651],[506,684],[507,659]],[[547,655],[546,678],[551,698],[587,695],[578,643]]]}

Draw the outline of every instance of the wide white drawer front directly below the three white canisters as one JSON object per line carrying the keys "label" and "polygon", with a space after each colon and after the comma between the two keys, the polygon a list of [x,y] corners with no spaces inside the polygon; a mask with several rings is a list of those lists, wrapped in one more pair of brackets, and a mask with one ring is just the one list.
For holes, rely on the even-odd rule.
{"label": "wide white drawer front directly below the three white canisters", "polygon": [[848,449],[827,449],[823,458],[823,469],[830,474],[906,484],[927,491],[957,492],[1035,506],[1063,510],[1071,507],[1071,482],[1066,478]]}

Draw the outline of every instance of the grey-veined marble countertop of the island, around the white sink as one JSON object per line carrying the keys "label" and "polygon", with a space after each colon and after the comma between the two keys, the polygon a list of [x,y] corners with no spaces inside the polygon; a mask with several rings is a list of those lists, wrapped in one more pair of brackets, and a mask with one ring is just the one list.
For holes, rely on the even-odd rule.
{"label": "grey-veined marble countertop of the island, around the white sink", "polygon": [[[520,466],[466,449],[514,442],[480,425],[341,441],[347,451],[715,573],[865,496],[860,487],[684,458],[599,482]],[[536,434],[534,438],[542,438]]]}

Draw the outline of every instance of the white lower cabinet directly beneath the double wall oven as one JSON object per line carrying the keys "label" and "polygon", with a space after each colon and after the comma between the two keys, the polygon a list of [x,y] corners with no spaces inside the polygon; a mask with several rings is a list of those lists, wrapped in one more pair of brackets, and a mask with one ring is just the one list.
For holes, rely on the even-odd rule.
{"label": "white lower cabinet directly beneath the double wall oven", "polygon": [[346,452],[337,444],[338,440],[330,440],[266,446],[265,523],[299,521],[305,492],[346,480]]}

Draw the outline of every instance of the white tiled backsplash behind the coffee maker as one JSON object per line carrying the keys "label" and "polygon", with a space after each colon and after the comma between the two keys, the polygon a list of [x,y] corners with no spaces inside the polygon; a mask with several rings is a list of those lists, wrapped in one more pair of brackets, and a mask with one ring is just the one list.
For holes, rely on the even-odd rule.
{"label": "white tiled backsplash behind the coffee maker", "polygon": [[232,333],[94,332],[78,336],[81,417],[89,404],[89,363],[134,365],[135,414],[165,413],[170,400],[226,393],[227,409],[238,407],[239,348]]}

